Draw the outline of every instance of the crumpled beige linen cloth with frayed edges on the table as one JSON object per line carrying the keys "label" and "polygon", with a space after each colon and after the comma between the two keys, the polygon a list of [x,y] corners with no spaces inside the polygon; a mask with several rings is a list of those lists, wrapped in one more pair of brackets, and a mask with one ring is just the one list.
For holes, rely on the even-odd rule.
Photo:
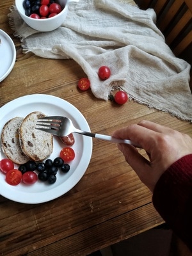
{"label": "crumpled beige linen cloth with frayed edges on the table", "polygon": [[[70,3],[63,25],[47,33],[29,28],[13,6],[10,25],[15,36],[20,36],[24,51],[77,61],[90,79],[95,97],[108,100],[118,84],[129,99],[192,122],[190,65],[175,58],[165,44],[154,10],[143,11],[125,2]],[[106,81],[100,81],[97,74],[102,65],[111,69]]]}

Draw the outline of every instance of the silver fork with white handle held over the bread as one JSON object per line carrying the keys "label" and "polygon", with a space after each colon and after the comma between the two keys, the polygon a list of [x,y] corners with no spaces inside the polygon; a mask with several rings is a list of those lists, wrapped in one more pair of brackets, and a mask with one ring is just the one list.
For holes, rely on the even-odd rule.
{"label": "silver fork with white handle held over the bread", "polygon": [[72,132],[77,132],[79,134],[90,136],[100,140],[108,140],[115,143],[125,143],[133,145],[134,147],[141,148],[140,145],[136,145],[136,143],[132,142],[131,140],[120,140],[109,135],[81,131],[74,127],[72,120],[64,116],[45,116],[39,118],[36,125],[38,125],[36,127],[37,130],[49,132],[59,137],[67,136]]}

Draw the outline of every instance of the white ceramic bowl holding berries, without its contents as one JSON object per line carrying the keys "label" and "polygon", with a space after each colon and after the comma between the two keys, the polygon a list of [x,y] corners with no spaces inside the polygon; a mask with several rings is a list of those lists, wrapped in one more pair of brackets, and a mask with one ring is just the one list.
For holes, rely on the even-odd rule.
{"label": "white ceramic bowl holding berries, without its contents", "polygon": [[79,0],[58,0],[56,1],[63,9],[58,15],[47,19],[33,19],[25,15],[24,7],[22,6],[23,0],[15,0],[15,6],[20,14],[20,17],[31,28],[38,31],[47,32],[59,28],[65,20],[68,12],[68,4],[71,2],[78,2]]}

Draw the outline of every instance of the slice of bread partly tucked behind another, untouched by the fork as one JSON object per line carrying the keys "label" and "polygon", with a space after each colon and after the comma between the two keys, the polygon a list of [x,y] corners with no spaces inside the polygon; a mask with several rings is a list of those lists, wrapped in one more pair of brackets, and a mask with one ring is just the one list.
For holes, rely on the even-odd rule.
{"label": "slice of bread partly tucked behind another, untouched by the fork", "polygon": [[19,127],[24,118],[16,116],[4,124],[1,132],[1,147],[4,155],[15,164],[24,164],[29,159],[22,152],[19,142]]}

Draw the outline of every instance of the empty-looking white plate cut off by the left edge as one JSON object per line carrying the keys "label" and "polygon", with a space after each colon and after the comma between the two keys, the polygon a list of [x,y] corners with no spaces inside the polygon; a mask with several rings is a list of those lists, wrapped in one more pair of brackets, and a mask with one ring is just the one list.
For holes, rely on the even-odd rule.
{"label": "empty-looking white plate cut off by the left edge", "polygon": [[15,60],[16,50],[12,38],[0,29],[0,82],[5,79],[12,71]]}

